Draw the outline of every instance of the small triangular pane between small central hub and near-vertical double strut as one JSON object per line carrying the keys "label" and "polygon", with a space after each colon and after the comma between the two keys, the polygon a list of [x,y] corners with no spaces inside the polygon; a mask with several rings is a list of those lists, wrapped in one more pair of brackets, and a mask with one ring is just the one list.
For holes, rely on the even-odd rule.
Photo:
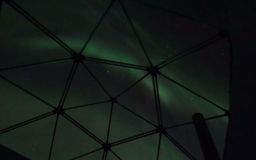
{"label": "small triangular pane between small central hub and near-vertical double strut", "polygon": [[[142,76],[143,75],[140,75],[140,77]],[[130,90],[121,95],[117,101],[154,125],[158,125],[151,75],[146,76],[146,78],[130,88]]]}

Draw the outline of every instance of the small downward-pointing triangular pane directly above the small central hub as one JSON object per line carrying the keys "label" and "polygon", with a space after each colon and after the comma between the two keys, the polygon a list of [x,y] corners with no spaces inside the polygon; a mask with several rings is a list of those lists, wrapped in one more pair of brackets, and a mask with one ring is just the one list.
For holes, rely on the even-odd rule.
{"label": "small downward-pointing triangular pane directly above the small central hub", "polygon": [[144,70],[96,62],[86,61],[85,64],[112,97],[118,96],[147,73]]}

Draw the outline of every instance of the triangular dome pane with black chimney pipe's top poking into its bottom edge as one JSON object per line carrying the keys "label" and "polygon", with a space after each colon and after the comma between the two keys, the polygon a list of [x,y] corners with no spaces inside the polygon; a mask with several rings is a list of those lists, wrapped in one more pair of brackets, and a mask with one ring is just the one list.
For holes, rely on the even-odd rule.
{"label": "triangular dome pane with black chimney pipe's top poking into its bottom edge", "polygon": [[158,86],[164,127],[192,121],[192,115],[202,113],[205,118],[224,114],[216,106],[158,76]]}

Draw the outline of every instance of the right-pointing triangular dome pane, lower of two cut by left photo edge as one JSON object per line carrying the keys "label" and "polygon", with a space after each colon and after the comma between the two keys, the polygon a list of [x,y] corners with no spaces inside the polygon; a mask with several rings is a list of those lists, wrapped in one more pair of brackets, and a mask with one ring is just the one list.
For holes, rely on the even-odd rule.
{"label": "right-pointing triangular dome pane, lower of two cut by left photo edge", "polygon": [[0,78],[0,129],[52,111],[50,106]]}

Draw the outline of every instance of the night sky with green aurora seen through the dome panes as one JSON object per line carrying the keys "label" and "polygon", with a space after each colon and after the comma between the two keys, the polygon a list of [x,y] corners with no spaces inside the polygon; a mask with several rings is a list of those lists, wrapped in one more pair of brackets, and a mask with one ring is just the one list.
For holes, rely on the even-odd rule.
{"label": "night sky with green aurora seen through the dome panes", "polygon": [[[28,13],[46,26],[76,52],[80,52],[99,22],[111,0],[15,0]],[[153,65],[172,58],[184,50],[218,34],[219,30],[155,8],[131,1],[123,1]],[[51,40],[13,8],[3,3],[0,19],[0,69],[24,64],[46,62],[72,55]],[[100,26],[93,34],[82,55],[140,66],[150,66],[144,51],[119,2],[114,2]],[[160,72],[190,90],[228,110],[229,108],[229,44],[222,39],[172,64]],[[42,64],[10,70],[0,75],[58,107],[73,60]],[[125,68],[84,61],[84,64],[116,97],[134,84],[146,70]],[[157,76],[162,121],[164,127],[192,121],[192,114],[200,112],[205,118],[224,114],[214,105]],[[0,128],[6,128],[53,109],[13,84],[0,78]],[[63,108],[108,101],[110,98],[94,80],[90,72],[78,64]],[[158,125],[154,89],[151,75],[141,80],[117,98],[117,102]],[[115,142],[155,127],[124,107],[114,103],[109,142]],[[111,112],[111,103],[84,106],[65,111],[77,122],[105,141]],[[52,142],[56,114],[26,126],[1,133],[0,143],[32,160],[47,160]],[[217,150],[222,157],[228,118],[208,120]],[[203,154],[194,125],[166,130],[196,159]],[[111,149],[122,160],[156,160],[159,134],[113,146]],[[95,140],[59,116],[52,160],[69,160],[101,148]],[[83,156],[79,160],[100,160],[103,150]],[[170,140],[162,136],[160,160],[189,160]],[[108,152],[107,160],[118,160]]]}

